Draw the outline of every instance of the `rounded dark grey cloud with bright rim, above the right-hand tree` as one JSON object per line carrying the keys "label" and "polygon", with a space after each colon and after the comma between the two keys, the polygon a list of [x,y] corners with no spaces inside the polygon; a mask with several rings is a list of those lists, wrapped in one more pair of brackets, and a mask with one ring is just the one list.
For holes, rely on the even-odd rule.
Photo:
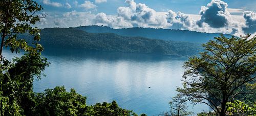
{"label": "rounded dark grey cloud with bright rim, above the right-hand tree", "polygon": [[207,7],[201,7],[199,14],[201,19],[198,21],[198,26],[202,27],[205,22],[212,28],[222,28],[228,25],[227,3],[220,0],[212,0]]}

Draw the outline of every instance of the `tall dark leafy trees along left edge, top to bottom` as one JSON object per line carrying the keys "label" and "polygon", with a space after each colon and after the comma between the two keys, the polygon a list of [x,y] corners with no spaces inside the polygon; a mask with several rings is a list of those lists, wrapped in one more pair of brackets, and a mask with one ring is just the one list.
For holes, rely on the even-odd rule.
{"label": "tall dark leafy trees along left edge, top to bottom", "polygon": [[[47,59],[40,56],[43,50],[38,43],[40,30],[31,26],[39,21],[40,16],[35,13],[40,10],[42,7],[31,0],[0,1],[0,98],[3,100],[1,104],[7,104],[0,105],[0,114],[28,114],[35,105],[32,99],[34,77],[39,79],[49,65]],[[31,43],[17,36],[22,33],[34,36]],[[4,47],[10,48],[12,53],[25,51],[25,54],[7,60],[2,55]]]}

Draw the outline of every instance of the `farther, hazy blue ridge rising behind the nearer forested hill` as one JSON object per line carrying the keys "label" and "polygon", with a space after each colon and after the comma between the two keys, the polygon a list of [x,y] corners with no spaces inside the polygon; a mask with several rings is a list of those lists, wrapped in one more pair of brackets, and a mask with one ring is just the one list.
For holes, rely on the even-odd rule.
{"label": "farther, hazy blue ridge rising behind the nearer forested hill", "polygon": [[[115,33],[121,36],[129,37],[145,37],[153,39],[187,41],[205,43],[209,39],[213,39],[220,33],[201,33],[187,30],[171,30],[171,29],[153,29],[153,28],[127,28],[127,29],[112,29],[106,26],[82,26],[75,29],[83,30],[89,33]],[[226,37],[231,37],[225,34]]]}

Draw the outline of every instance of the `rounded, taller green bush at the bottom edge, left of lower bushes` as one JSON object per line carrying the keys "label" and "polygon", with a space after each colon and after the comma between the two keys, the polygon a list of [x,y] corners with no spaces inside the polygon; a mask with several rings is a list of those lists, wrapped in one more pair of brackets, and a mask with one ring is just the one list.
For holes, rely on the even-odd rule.
{"label": "rounded, taller green bush at the bottom edge, left of lower bushes", "polygon": [[62,87],[46,89],[34,96],[33,115],[82,115],[86,114],[86,97],[76,93],[74,89],[67,92]]}

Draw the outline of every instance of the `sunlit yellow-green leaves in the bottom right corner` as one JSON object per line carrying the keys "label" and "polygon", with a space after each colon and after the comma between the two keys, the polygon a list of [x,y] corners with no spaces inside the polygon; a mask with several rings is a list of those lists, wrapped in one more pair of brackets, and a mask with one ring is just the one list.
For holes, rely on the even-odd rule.
{"label": "sunlit yellow-green leaves in the bottom right corner", "polygon": [[256,115],[256,105],[249,107],[241,101],[228,102],[227,104],[228,115]]}

